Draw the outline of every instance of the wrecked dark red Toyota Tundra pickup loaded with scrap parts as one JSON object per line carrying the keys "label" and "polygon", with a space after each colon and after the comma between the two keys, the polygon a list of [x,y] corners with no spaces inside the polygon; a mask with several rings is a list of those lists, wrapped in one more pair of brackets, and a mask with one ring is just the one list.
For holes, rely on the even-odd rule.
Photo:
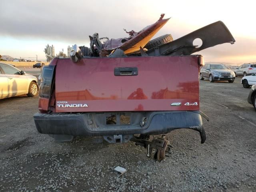
{"label": "wrecked dark red Toyota Tundra pickup loaded with scrap parts", "polygon": [[[195,52],[235,42],[228,28],[215,22],[186,36],[167,34],[150,39],[168,22],[160,19],[128,38],[101,42],[95,33],[90,47],[72,47],[70,58],[54,58],[42,71],[38,132],[56,141],[74,136],[101,137],[109,143],[144,146],[147,156],[162,160],[170,151],[164,135],[187,128],[206,140],[200,111],[199,70]],[[202,45],[193,44],[200,38]],[[150,138],[150,136],[156,136]]]}

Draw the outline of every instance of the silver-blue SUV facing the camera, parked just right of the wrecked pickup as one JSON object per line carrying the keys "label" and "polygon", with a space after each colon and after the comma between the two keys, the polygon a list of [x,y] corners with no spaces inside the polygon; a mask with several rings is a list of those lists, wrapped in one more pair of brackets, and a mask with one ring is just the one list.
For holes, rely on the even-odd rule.
{"label": "silver-blue SUV facing the camera, parked just right of the wrecked pickup", "polygon": [[199,75],[200,80],[208,78],[210,82],[225,80],[232,83],[235,80],[235,73],[224,64],[205,64]]}

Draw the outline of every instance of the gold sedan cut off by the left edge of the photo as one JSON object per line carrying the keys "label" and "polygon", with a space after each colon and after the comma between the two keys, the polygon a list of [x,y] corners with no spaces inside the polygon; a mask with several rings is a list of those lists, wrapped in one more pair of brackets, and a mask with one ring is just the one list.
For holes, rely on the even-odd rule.
{"label": "gold sedan cut off by the left edge of the photo", "polygon": [[38,93],[37,78],[17,68],[0,63],[0,99],[27,94],[29,97]]}

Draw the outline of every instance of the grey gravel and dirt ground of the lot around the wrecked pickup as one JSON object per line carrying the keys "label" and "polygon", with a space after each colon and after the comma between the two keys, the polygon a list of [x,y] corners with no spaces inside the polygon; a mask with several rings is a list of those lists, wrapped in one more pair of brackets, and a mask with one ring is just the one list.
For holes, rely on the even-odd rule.
{"label": "grey gravel and dirt ground of the lot around the wrecked pickup", "polygon": [[[201,81],[206,142],[198,132],[173,131],[162,162],[132,142],[54,142],[34,126],[38,97],[0,100],[0,191],[256,191],[256,112],[240,80]],[[120,176],[116,166],[128,171]]]}

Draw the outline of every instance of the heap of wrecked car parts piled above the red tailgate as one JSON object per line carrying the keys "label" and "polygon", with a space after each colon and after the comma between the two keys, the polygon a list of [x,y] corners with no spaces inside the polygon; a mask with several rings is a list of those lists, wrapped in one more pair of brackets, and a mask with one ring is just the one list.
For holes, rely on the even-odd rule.
{"label": "heap of wrecked car parts piled above the red tailgate", "polygon": [[[149,41],[168,22],[161,14],[159,20],[146,26],[139,32],[134,30],[128,33],[128,38],[108,39],[102,44],[98,33],[90,37],[90,48],[85,46],[73,46],[71,52],[72,61],[82,57],[119,57],[119,56],[181,56],[190,55],[194,52],[223,43],[235,42],[232,34],[223,22],[218,21],[200,28],[186,36],[173,41],[171,34],[160,36]],[[125,30],[126,31],[126,30]],[[202,40],[202,45],[194,45],[195,39]]]}

